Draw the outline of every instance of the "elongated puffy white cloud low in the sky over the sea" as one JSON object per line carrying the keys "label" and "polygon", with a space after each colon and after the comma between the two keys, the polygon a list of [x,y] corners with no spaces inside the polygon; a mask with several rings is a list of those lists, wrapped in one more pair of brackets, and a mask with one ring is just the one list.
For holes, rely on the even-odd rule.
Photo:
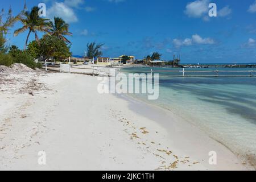
{"label": "elongated puffy white cloud low in the sky over the sea", "polygon": [[195,34],[192,35],[192,38],[186,38],[184,40],[174,39],[172,41],[175,48],[180,48],[182,46],[192,46],[195,44],[214,44],[214,40],[211,38],[201,38],[201,36]]}

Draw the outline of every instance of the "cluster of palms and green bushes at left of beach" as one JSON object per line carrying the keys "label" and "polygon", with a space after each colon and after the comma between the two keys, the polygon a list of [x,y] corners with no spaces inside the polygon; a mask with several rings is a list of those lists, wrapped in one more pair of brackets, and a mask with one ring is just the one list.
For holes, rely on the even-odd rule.
{"label": "cluster of palms and green bushes at left of beach", "polygon": [[[72,36],[69,32],[69,24],[59,17],[51,21],[38,15],[39,8],[34,6],[31,11],[24,9],[16,16],[13,16],[11,9],[6,14],[2,10],[0,14],[0,65],[10,66],[13,63],[23,63],[28,67],[42,67],[36,64],[36,59],[62,60],[71,56],[71,42],[66,36]],[[15,45],[7,46],[6,35],[16,22],[22,23],[22,27],[14,31],[14,36],[28,31],[24,49],[20,50]],[[38,33],[43,32],[42,38]],[[34,34],[35,40],[28,43],[30,36]]]}

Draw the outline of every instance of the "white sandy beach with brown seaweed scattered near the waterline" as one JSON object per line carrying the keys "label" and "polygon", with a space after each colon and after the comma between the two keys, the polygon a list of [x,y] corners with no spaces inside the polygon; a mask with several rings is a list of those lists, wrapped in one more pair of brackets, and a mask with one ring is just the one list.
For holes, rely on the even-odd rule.
{"label": "white sandy beach with brown seaweed scattered near the waterline", "polygon": [[[98,94],[97,77],[31,77],[40,87],[32,93],[19,85],[0,88],[1,170],[249,169],[170,111]],[[46,165],[38,164],[39,151],[46,152]],[[217,152],[217,165],[208,163],[209,151]]]}

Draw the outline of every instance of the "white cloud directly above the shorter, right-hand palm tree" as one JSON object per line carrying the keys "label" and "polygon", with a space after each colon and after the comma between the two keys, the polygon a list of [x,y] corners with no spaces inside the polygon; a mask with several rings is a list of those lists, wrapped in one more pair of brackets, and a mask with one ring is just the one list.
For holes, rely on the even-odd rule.
{"label": "white cloud directly above the shorter, right-hand palm tree", "polygon": [[47,16],[53,19],[54,16],[63,18],[67,23],[77,22],[77,16],[73,9],[63,2],[55,2],[47,11]]}

